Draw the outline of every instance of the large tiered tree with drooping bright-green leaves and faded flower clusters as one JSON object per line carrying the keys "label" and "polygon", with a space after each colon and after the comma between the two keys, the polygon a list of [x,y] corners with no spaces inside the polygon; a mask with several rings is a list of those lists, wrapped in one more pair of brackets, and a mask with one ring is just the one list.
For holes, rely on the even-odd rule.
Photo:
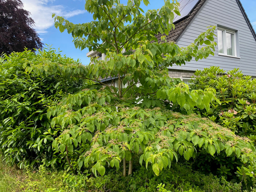
{"label": "large tiered tree with drooping bright-green leaves and faded flower clusters", "polygon": [[[168,67],[173,64],[182,65],[192,58],[199,60],[213,55],[215,27],[200,34],[190,46],[180,48],[175,42],[167,42],[164,36],[175,27],[173,18],[174,13],[180,15],[179,3],[166,0],[161,9],[144,13],[141,2],[128,0],[124,5],[119,0],[88,0],[85,9],[93,14],[94,21],[84,24],[73,24],[53,14],[56,28],[61,32],[67,29],[74,37],[75,47],[81,50],[88,47],[110,58],[105,61],[92,58],[87,66],[72,65],[63,70],[67,75],[93,80],[105,87],[69,95],[61,106],[48,111],[48,117],[53,116],[52,128],[61,126],[52,143],[56,154],[73,158],[69,164],[78,169],[83,164],[91,166],[95,175],[97,172],[104,175],[105,165],[118,170],[123,159],[124,176],[127,161],[128,175],[132,174],[132,157],[139,151],[143,153],[141,165],[145,162],[147,167],[150,163],[156,175],[167,164],[170,166],[173,159],[178,160],[177,152],[186,160],[195,158],[196,148],[204,148],[210,155],[225,151],[227,156],[241,159],[240,151],[248,143],[227,136],[231,132],[223,138],[214,131],[224,131],[220,127],[204,127],[193,118],[182,120],[180,114],[173,114],[173,111],[190,114],[195,106],[208,111],[211,100],[219,103],[214,89],[189,92],[187,85],[168,77]],[[148,5],[149,1],[143,3]],[[157,33],[163,34],[161,42],[155,38]],[[37,68],[41,73],[44,66]],[[106,78],[111,82],[101,81]],[[116,80],[118,87],[114,86]],[[207,131],[201,135],[202,130]],[[240,143],[239,149],[228,144],[233,139]],[[252,145],[247,146],[254,151]],[[242,161],[252,163],[253,153],[243,155]]]}

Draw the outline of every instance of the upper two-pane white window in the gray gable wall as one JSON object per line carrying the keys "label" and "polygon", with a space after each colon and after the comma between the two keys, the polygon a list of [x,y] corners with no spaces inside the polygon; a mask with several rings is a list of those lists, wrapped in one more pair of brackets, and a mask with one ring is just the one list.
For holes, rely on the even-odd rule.
{"label": "upper two-pane white window in the gray gable wall", "polygon": [[218,27],[218,51],[219,55],[237,56],[235,31]]}

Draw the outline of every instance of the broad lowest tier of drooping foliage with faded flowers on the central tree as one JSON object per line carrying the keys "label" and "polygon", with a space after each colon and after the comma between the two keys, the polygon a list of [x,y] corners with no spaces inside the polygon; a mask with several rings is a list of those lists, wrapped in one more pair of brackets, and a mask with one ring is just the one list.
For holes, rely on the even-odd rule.
{"label": "broad lowest tier of drooping foliage with faded flowers on the central tree", "polygon": [[[75,102],[79,94],[81,98],[83,94],[91,97],[79,103],[80,109]],[[163,105],[147,108],[116,99],[108,88],[101,92],[85,90],[48,109],[49,118],[56,115],[52,118],[52,129],[61,126],[58,132],[48,133],[55,137],[52,147],[57,162],[67,156],[72,159],[65,161],[67,167],[90,167],[95,175],[104,175],[106,166],[118,170],[121,159],[129,161],[142,151],[140,164],[150,165],[159,175],[162,169],[171,166],[173,159],[195,158],[198,149],[212,156],[223,151],[242,163],[252,163],[255,158],[254,146],[248,138],[236,136],[210,120],[174,113]]]}

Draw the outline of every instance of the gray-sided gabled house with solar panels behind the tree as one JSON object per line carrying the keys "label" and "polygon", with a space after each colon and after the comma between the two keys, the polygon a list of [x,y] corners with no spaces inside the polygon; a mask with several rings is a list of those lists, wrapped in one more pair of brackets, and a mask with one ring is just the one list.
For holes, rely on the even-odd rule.
{"label": "gray-sided gabled house with solar panels behind the tree", "polygon": [[[187,47],[205,32],[208,26],[217,26],[214,56],[199,61],[191,60],[186,65],[173,65],[169,76],[188,82],[196,69],[218,66],[224,70],[241,69],[244,75],[256,77],[256,33],[240,0],[181,0],[180,13],[173,23],[175,29],[167,41],[175,41],[179,47]],[[160,39],[161,34],[157,35]],[[99,55],[97,55],[99,54]],[[90,51],[87,56],[104,54]]]}

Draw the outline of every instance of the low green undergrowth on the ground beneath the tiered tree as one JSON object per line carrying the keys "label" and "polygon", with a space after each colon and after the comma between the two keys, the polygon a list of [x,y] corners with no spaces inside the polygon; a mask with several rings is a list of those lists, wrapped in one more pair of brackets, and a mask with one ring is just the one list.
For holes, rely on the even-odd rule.
{"label": "low green undergrowth on the ground beneath the tiered tree", "polygon": [[[212,174],[204,175],[193,171],[191,167],[173,163],[170,169],[155,176],[152,170],[140,167],[132,176],[123,177],[121,174],[109,172],[103,177],[88,179],[87,190],[92,191],[241,191],[241,183],[228,182],[224,177],[218,178]],[[160,190],[161,189],[161,190]]]}

